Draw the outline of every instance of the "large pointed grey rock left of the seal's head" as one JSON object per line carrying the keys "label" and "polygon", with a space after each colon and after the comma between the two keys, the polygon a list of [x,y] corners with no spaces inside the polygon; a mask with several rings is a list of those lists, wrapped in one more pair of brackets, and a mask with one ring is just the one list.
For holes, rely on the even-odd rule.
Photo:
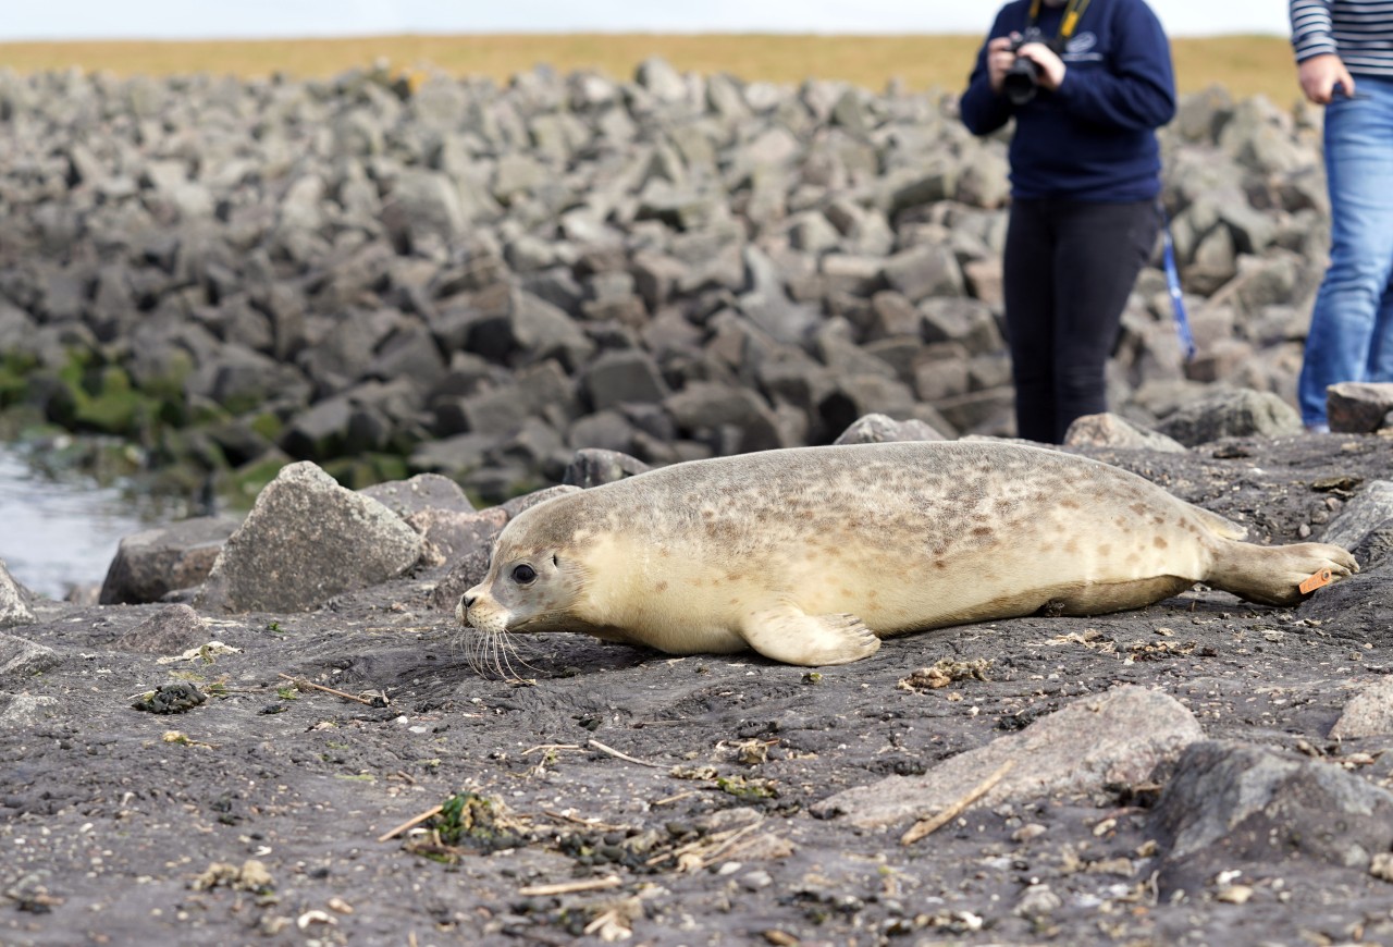
{"label": "large pointed grey rock left of the seal's head", "polygon": [[419,535],[372,497],[338,486],[309,461],[256,497],[194,600],[209,611],[309,611],[336,595],[401,575]]}

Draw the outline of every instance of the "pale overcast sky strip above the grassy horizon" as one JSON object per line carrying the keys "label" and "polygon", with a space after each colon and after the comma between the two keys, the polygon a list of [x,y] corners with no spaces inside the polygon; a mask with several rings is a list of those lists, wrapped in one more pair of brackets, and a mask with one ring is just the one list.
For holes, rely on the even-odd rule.
{"label": "pale overcast sky strip above the grassy horizon", "polygon": [[[982,0],[3,0],[0,39],[293,38],[354,33],[976,33]],[[1282,0],[1151,0],[1174,36],[1287,32]],[[3,63],[0,63],[3,65]]]}

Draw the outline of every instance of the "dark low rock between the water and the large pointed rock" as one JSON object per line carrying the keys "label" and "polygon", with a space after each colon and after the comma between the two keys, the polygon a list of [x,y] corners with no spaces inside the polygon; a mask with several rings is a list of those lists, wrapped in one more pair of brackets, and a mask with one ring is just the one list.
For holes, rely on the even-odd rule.
{"label": "dark low rock between the water and the large pointed rock", "polygon": [[159,602],[177,589],[201,585],[238,525],[238,517],[195,517],[124,536],[98,602]]}

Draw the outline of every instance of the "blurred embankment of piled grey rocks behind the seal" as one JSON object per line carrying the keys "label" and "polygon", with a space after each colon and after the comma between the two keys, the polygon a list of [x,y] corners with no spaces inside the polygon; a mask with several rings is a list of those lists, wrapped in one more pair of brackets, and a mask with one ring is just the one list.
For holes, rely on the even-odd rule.
{"label": "blurred embankment of piled grey rocks behind the seal", "polygon": [[[1199,354],[1148,269],[1113,405],[1291,402],[1326,251],[1315,121],[1220,89],[1165,130]],[[0,74],[0,408],[249,500],[311,460],[488,501],[577,448],[1009,435],[1004,139],[954,96],[546,68],[500,88]],[[1282,422],[1290,428],[1290,412]]]}

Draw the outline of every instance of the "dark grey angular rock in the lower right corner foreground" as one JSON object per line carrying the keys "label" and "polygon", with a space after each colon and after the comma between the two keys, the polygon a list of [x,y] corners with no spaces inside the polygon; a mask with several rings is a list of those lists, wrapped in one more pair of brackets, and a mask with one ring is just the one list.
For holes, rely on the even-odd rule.
{"label": "dark grey angular rock in the lower right corner foreground", "polygon": [[1152,811],[1160,891],[1219,870],[1315,859],[1368,869],[1393,847],[1393,794],[1325,760],[1233,741],[1185,748]]}

